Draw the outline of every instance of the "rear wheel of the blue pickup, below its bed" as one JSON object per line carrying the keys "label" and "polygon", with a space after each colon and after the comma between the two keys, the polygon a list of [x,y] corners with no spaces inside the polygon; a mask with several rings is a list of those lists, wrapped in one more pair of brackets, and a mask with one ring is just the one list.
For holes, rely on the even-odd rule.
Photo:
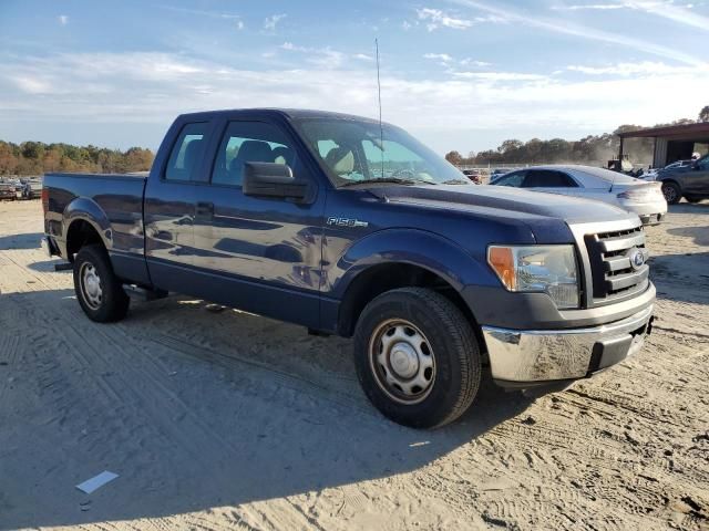
{"label": "rear wheel of the blue pickup, below its bed", "polygon": [[109,254],[102,246],[82,247],[76,253],[74,291],[81,309],[97,323],[120,321],[129,311],[131,299],[113,273]]}

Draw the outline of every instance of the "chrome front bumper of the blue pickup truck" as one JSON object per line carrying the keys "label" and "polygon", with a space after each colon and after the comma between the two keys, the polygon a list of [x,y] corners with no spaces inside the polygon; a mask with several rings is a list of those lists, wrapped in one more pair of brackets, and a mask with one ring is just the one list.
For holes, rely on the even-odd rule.
{"label": "chrome front bumper of the blue pickup truck", "polygon": [[524,387],[583,378],[638,352],[649,333],[654,305],[621,321],[568,330],[506,330],[483,326],[492,377]]}

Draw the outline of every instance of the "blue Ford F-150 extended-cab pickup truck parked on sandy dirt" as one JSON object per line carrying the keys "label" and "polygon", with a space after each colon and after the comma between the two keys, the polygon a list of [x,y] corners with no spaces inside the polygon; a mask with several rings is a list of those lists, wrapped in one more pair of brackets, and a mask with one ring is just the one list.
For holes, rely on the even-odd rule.
{"label": "blue Ford F-150 extended-cab pickup truck parked on sandy dirt", "polygon": [[[499,385],[637,352],[655,288],[635,215],[477,186],[404,131],[335,113],[179,116],[150,176],[44,178],[50,256],[97,322],[168,292],[353,336],[387,417],[432,428]],[[487,369],[485,371],[487,374]]]}

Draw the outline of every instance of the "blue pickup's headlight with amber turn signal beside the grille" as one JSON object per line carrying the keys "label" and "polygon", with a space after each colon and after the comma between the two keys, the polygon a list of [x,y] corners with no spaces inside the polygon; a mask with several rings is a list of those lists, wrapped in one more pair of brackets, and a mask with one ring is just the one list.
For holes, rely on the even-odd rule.
{"label": "blue pickup's headlight with amber turn signal beside the grille", "polygon": [[543,292],[556,308],[578,308],[574,246],[490,246],[487,263],[510,291]]}

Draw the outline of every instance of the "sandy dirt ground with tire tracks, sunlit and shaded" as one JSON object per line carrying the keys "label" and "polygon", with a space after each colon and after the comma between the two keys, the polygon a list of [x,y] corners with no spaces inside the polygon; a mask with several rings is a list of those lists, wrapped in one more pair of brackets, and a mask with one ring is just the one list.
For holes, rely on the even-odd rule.
{"label": "sandy dirt ground with tire tracks, sunlit and shaded", "polygon": [[179,296],[90,322],[40,202],[2,202],[0,529],[709,529],[709,202],[670,212],[640,354],[415,431],[369,405],[350,341]]}

